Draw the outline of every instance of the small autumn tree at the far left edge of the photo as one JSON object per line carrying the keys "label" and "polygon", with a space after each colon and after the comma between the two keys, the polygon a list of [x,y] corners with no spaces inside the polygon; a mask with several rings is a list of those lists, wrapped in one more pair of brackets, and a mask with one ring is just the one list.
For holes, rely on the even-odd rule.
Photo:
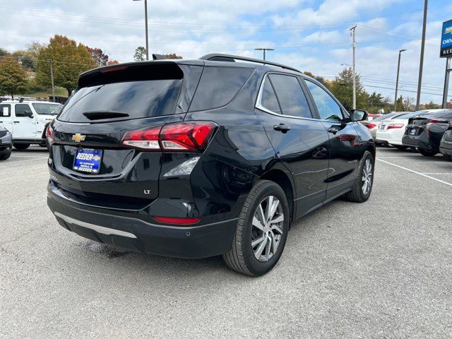
{"label": "small autumn tree at the far left edge of the photo", "polygon": [[27,74],[16,58],[4,57],[0,60],[0,94],[25,93],[27,90]]}

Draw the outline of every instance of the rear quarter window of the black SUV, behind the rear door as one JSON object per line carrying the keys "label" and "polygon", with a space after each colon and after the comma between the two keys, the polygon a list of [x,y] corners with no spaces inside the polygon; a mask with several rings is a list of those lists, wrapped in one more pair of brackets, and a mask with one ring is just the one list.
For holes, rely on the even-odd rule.
{"label": "rear quarter window of the black SUV, behind the rear door", "polygon": [[190,111],[227,105],[248,80],[253,69],[206,66],[199,81]]}

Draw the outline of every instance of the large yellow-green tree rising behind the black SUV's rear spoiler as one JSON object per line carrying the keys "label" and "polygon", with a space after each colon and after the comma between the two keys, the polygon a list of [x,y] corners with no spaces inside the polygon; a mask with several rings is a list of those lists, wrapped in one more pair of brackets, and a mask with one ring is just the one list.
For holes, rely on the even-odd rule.
{"label": "large yellow-green tree rising behind the black SUV's rear spoiler", "polygon": [[51,85],[49,59],[54,69],[54,84],[66,88],[71,95],[77,86],[78,75],[97,67],[86,46],[63,35],[55,35],[49,44],[40,48],[36,80],[40,85]]}

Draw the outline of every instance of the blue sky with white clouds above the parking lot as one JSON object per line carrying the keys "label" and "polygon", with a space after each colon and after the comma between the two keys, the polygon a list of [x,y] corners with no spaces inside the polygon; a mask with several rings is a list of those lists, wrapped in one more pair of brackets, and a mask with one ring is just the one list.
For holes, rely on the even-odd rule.
{"label": "blue sky with white clouds above the parking lot", "polygon": [[[415,97],[424,1],[415,0],[165,0],[148,1],[150,52],[184,59],[223,52],[267,59],[332,78],[352,63],[350,27],[357,24],[357,72],[369,92]],[[110,59],[131,61],[144,46],[144,2],[132,0],[0,0],[0,47],[67,35],[100,47]],[[429,1],[421,102],[441,102],[446,61],[439,58],[441,25],[452,2]],[[452,99],[452,85],[449,95]]]}

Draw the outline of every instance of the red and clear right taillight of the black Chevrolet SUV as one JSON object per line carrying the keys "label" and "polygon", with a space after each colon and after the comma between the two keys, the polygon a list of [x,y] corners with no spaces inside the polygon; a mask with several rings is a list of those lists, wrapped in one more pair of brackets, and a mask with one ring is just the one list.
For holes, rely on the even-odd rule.
{"label": "red and clear right taillight of the black Chevrolet SUV", "polygon": [[121,145],[151,151],[202,152],[217,127],[211,121],[188,121],[138,129],[125,133]]}

